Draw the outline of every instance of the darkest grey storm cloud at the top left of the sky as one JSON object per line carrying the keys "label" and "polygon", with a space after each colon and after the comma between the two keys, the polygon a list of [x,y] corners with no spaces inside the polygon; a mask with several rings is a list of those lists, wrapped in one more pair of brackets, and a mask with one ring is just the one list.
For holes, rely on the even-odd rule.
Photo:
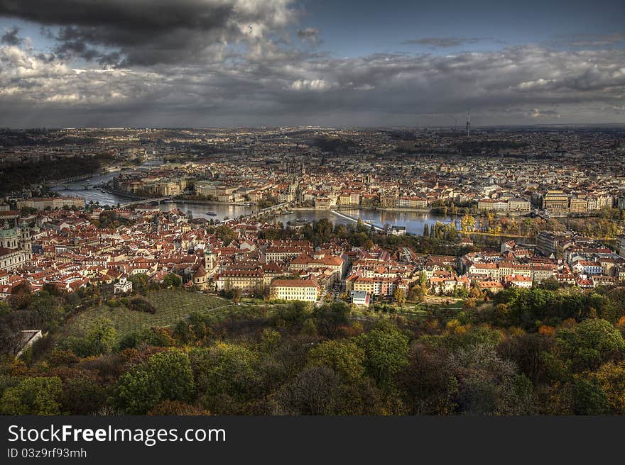
{"label": "darkest grey storm cloud at the top left of the sky", "polygon": [[[178,63],[292,21],[290,0],[0,0],[0,16],[48,26],[55,52],[117,65]],[[59,26],[57,32],[53,31]],[[114,55],[117,53],[118,55]]]}

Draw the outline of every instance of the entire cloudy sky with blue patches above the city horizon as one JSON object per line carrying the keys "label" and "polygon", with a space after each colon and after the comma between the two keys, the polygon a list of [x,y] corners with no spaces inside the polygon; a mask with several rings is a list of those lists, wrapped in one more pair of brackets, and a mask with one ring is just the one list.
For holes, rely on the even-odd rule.
{"label": "entire cloudy sky with blue patches above the city horizon", "polygon": [[0,0],[9,127],[625,123],[622,0]]}

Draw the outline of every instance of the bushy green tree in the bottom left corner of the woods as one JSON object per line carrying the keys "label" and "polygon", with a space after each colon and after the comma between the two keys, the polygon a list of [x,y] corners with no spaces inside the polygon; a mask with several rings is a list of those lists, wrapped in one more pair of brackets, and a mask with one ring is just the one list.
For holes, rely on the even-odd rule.
{"label": "bushy green tree in the bottom left corner of the woods", "polygon": [[60,415],[62,382],[58,376],[26,378],[0,398],[2,415]]}

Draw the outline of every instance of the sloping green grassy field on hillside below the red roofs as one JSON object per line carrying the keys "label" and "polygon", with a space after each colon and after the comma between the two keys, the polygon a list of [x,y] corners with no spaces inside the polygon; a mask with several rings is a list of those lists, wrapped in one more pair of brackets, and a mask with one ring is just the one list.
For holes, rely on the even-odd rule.
{"label": "sloping green grassy field on hillside below the red roofs", "polygon": [[89,308],[67,322],[62,334],[82,335],[100,317],[113,322],[119,337],[145,327],[170,326],[195,311],[233,306],[231,301],[202,293],[163,289],[146,295],[148,301],[156,307],[156,313],[129,310],[125,306],[109,307],[102,305]]}

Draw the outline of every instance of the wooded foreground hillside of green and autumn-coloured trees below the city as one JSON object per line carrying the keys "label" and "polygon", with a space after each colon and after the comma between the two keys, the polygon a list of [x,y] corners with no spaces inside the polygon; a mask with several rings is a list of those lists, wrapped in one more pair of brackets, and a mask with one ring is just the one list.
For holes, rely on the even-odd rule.
{"label": "wooded foreground hillside of green and autumn-coloured trees below the city", "polygon": [[[0,361],[0,411],[625,413],[624,288],[543,286],[506,290],[475,308],[467,299],[464,308],[430,303],[392,314],[396,306],[378,304],[363,315],[342,302],[233,306],[145,284],[156,314],[129,310],[131,298],[121,298],[72,315],[60,334],[51,329],[33,357]],[[62,321],[70,308],[52,288],[23,291],[26,306],[4,315],[3,337],[14,322],[54,322],[58,308]],[[102,301],[106,293],[80,296]],[[182,349],[165,348],[174,346]],[[42,381],[55,376],[60,390]]]}

